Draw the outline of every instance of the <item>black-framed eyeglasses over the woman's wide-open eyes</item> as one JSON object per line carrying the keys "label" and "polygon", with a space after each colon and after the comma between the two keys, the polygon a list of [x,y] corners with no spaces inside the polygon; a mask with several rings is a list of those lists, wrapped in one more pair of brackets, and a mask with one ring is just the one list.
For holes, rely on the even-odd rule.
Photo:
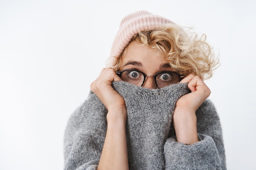
{"label": "black-framed eyeglasses over the woman's wide-open eyes", "polygon": [[161,71],[159,73],[156,73],[155,75],[146,75],[142,71],[135,69],[117,71],[117,75],[123,81],[135,84],[137,86],[143,86],[147,76],[154,77],[155,85],[158,88],[163,88],[171,84],[177,84],[184,78],[184,75],[173,71]]}

